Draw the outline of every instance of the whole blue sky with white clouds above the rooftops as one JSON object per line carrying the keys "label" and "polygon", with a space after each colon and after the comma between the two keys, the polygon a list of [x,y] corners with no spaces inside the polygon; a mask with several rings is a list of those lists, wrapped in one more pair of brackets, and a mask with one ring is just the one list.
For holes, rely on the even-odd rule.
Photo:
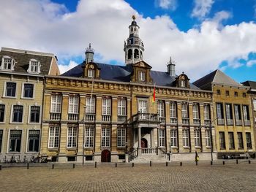
{"label": "whole blue sky with white clouds above the rooftops", "polygon": [[61,72],[84,59],[124,65],[124,40],[136,15],[144,61],[192,81],[221,69],[256,81],[256,0],[1,0],[0,47],[55,53]]}

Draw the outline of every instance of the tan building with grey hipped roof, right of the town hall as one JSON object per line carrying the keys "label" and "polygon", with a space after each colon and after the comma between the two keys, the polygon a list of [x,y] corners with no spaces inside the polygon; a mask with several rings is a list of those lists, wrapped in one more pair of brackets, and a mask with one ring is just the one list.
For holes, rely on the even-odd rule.
{"label": "tan building with grey hipped roof, right of the town hall", "polygon": [[[214,121],[218,158],[255,153],[254,118],[249,87],[216,70],[194,82],[214,92]],[[223,156],[222,156],[223,155]]]}

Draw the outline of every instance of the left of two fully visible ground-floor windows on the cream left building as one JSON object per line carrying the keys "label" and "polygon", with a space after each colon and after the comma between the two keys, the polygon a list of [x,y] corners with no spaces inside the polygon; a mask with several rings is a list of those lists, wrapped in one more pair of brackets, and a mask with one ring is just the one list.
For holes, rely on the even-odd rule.
{"label": "left of two fully visible ground-floor windows on the cream left building", "polygon": [[10,130],[9,152],[20,152],[21,130]]}

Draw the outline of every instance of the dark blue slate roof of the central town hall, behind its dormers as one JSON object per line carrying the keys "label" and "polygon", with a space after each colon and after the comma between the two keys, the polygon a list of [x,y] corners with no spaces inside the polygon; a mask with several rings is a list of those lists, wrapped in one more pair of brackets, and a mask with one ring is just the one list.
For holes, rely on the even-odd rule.
{"label": "dark blue slate roof of the central town hall, behind its dormers", "polygon": [[[118,82],[130,82],[131,74],[133,72],[132,65],[127,66],[117,66],[110,64],[100,64],[95,63],[100,69],[100,79],[102,80],[110,80],[110,81],[118,81]],[[82,77],[83,76],[83,64],[79,64],[69,71],[61,74],[61,76],[67,77]],[[159,86],[173,86],[173,82],[176,80],[176,77],[170,76],[167,72],[157,72],[151,70],[151,78],[156,85]],[[190,88],[199,89],[197,86],[190,83]]]}

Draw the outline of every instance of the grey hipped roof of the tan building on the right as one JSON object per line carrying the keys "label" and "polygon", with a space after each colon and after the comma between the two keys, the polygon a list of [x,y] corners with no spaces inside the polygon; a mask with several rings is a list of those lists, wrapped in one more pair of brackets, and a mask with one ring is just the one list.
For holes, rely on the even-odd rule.
{"label": "grey hipped roof of the tan building on the right", "polygon": [[211,85],[213,83],[221,84],[221,85],[236,86],[236,87],[242,86],[240,83],[238,83],[235,80],[233,80],[232,78],[228,77],[227,74],[223,73],[219,69],[217,69],[214,72],[211,72],[209,74],[206,74],[206,76],[193,82],[193,84],[196,85],[198,88],[202,88],[205,90],[211,90]]}

